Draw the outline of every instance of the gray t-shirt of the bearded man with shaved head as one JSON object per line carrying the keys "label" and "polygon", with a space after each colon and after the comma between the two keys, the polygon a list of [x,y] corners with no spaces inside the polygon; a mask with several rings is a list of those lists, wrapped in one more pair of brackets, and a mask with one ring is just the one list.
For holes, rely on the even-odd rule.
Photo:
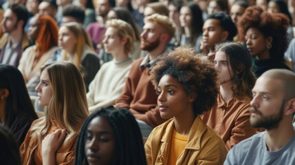
{"label": "gray t-shirt of the bearded man with shaved head", "polygon": [[265,132],[236,144],[226,157],[224,164],[295,164],[295,135],[278,151],[267,151]]}

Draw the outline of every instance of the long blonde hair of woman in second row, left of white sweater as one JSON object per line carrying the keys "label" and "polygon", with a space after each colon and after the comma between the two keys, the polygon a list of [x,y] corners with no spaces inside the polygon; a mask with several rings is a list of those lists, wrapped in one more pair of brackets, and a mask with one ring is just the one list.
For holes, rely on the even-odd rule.
{"label": "long blonde hair of woman in second row, left of white sweater", "polygon": [[[85,32],[85,30],[83,29],[82,25],[80,25],[80,23],[69,22],[69,23],[63,24],[62,26],[69,29],[69,31],[71,31],[76,37],[77,44],[76,44],[75,54],[72,54],[73,55],[73,62],[72,63],[74,63],[74,65],[78,68],[78,70],[81,72],[81,74],[84,75],[83,66],[81,65],[83,51],[85,49],[94,51],[94,47],[90,41],[90,38],[87,35],[87,33]],[[67,54],[68,54],[67,51],[62,50],[61,61],[68,60]]]}

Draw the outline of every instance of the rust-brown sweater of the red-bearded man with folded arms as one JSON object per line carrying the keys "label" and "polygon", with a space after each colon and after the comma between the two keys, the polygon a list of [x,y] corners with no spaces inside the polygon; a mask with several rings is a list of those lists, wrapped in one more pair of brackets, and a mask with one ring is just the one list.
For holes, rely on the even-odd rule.
{"label": "rust-brown sweater of the red-bearded man with folded arms", "polygon": [[166,120],[160,117],[157,108],[157,95],[151,83],[149,69],[140,68],[143,58],[133,62],[125,87],[115,107],[129,109],[135,118],[142,120],[151,127],[162,124]]}

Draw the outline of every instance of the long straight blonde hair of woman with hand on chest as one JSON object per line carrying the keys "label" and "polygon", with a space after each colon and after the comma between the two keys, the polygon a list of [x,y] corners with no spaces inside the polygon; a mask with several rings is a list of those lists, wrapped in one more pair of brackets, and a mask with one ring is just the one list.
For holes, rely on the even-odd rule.
{"label": "long straight blonde hair of woman with hand on chest", "polygon": [[52,86],[52,98],[45,117],[32,126],[32,137],[41,137],[50,129],[52,118],[61,129],[67,129],[65,142],[74,137],[88,117],[86,89],[76,66],[69,62],[54,62],[45,65]]}

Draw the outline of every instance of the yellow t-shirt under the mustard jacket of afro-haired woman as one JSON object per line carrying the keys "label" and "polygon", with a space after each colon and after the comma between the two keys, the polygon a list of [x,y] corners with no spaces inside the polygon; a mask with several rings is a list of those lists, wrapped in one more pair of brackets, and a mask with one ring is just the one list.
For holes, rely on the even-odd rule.
{"label": "yellow t-shirt under the mustard jacket of afro-haired woman", "polygon": [[186,148],[187,142],[188,136],[177,133],[177,131],[173,129],[168,164],[176,164],[179,155],[184,151],[184,148]]}

